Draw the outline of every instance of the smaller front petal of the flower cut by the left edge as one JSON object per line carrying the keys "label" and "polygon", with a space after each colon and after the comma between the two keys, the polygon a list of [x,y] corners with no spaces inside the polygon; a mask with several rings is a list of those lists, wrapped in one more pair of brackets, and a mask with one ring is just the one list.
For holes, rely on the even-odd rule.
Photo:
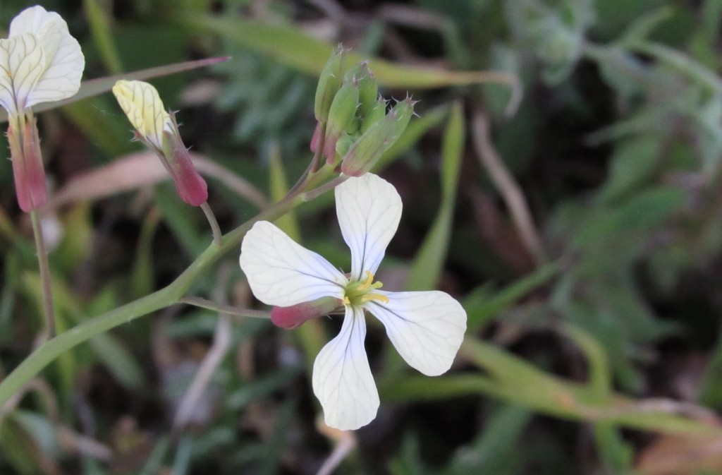
{"label": "smaller front petal of the flower cut by the left edge", "polygon": [[10,115],[28,106],[28,95],[45,70],[40,40],[31,33],[0,40],[0,105]]}

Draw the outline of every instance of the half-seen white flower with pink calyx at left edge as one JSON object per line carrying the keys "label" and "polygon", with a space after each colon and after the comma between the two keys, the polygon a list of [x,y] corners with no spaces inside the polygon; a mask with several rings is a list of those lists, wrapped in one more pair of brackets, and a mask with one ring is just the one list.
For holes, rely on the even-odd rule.
{"label": "half-seen white flower with pink calyx at left edge", "polygon": [[0,106],[8,113],[8,142],[17,201],[23,211],[48,200],[35,104],[69,98],[78,92],[85,59],[68,25],[43,7],[23,10],[0,40]]}

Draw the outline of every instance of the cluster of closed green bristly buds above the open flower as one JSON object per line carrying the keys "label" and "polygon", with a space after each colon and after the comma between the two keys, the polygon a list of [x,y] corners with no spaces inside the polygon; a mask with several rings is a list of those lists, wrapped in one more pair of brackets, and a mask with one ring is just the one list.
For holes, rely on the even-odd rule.
{"label": "cluster of closed green bristly buds above the open flower", "polygon": [[368,63],[348,68],[346,59],[339,46],[323,67],[314,107],[318,123],[310,147],[323,153],[329,165],[340,163],[342,173],[361,176],[401,137],[416,101],[397,101],[387,112],[387,100],[378,95]]}

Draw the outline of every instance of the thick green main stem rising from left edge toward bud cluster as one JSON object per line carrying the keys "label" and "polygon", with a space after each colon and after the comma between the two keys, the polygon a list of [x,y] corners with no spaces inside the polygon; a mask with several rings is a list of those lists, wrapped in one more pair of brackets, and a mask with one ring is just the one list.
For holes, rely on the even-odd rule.
{"label": "thick green main stem rising from left edge toward bud cluster", "polygon": [[83,343],[98,333],[103,333],[116,328],[123,323],[129,323],[138,317],[147,315],[156,310],[175,304],[178,300],[188,292],[193,283],[201,275],[203,275],[212,265],[214,265],[224,254],[232,249],[238,250],[240,241],[243,240],[245,233],[251,229],[256,221],[273,221],[288,211],[292,210],[300,203],[304,202],[303,196],[297,192],[289,194],[283,200],[259,213],[255,218],[243,223],[230,233],[223,236],[220,246],[211,244],[178,278],[168,286],[161,288],[141,299],[131,301],[128,304],[105,312],[97,317],[87,320],[87,322],[71,328],[51,340],[45,341],[42,345],[35,348],[17,368],[13,370],[4,380],[0,382],[0,406],[12,397],[12,395],[22,388],[32,377],[35,377],[43,368],[51,363],[58,356],[68,351],[70,348]]}

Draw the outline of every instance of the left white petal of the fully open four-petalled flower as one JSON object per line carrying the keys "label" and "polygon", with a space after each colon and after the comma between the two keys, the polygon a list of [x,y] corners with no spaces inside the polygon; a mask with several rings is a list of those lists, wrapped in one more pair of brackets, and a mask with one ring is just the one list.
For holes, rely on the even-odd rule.
{"label": "left white petal of the fully open four-petalled flower", "polygon": [[268,221],[258,221],[245,234],[240,268],[264,304],[290,307],[325,296],[344,298],[346,277]]}

